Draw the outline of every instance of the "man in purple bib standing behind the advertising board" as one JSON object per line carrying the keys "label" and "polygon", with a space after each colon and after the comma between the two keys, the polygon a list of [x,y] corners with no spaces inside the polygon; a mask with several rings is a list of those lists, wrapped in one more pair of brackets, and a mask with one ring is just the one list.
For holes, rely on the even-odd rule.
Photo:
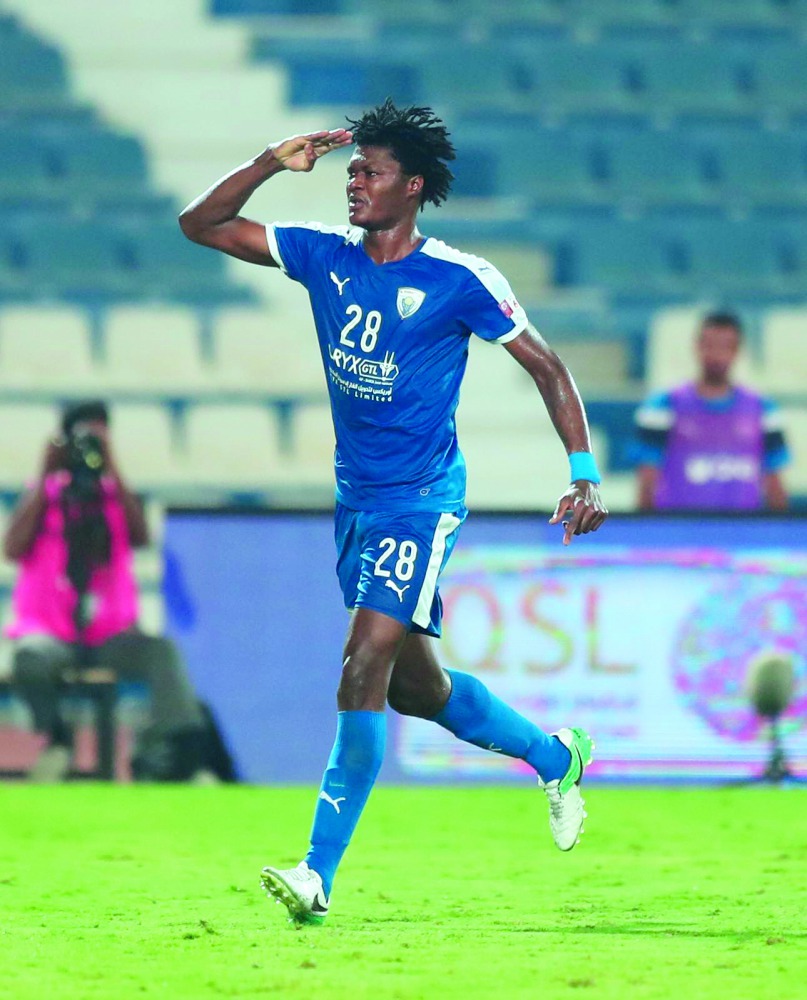
{"label": "man in purple bib standing behind the advertising board", "polygon": [[731,380],[740,320],[705,316],[698,377],[647,399],[636,412],[641,510],[784,510],[789,461],[778,407]]}

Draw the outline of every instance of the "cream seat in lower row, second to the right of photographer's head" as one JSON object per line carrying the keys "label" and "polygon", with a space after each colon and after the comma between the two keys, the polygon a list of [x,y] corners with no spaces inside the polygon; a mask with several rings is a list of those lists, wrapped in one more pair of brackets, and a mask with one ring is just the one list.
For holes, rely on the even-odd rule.
{"label": "cream seat in lower row, second to the right of photographer's head", "polygon": [[262,491],[286,462],[270,407],[199,403],[188,409],[177,464],[183,482],[222,492]]}

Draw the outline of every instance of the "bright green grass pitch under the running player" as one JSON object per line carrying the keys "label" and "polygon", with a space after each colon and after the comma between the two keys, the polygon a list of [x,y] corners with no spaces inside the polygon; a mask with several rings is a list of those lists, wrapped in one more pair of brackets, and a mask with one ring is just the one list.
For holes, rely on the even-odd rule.
{"label": "bright green grass pitch under the running player", "polygon": [[532,787],[377,788],[323,927],[258,888],[313,789],[0,786],[8,1000],[807,996],[807,798],[590,787],[552,844]]}

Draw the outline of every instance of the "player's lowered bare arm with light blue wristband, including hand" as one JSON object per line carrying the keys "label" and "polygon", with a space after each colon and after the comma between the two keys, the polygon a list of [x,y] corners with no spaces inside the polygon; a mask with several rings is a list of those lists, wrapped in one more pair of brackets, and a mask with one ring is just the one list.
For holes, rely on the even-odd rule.
{"label": "player's lowered bare arm with light blue wristband, including hand", "polygon": [[[593,458],[585,458],[591,455],[591,437],[583,401],[571,372],[532,324],[504,347],[538,387],[567,455],[582,456],[582,461],[573,460],[572,467],[582,465],[584,471],[558,500],[549,522],[563,523],[563,544],[568,545],[573,535],[596,531],[608,516]],[[588,475],[590,479],[585,478]]]}

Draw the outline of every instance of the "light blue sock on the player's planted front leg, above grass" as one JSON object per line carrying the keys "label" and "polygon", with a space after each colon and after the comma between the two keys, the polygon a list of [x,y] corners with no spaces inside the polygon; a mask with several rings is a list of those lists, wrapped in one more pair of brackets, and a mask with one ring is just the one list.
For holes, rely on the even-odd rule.
{"label": "light blue sock on the player's planted front leg, above grass", "polygon": [[386,742],[383,712],[339,713],[305,858],[322,879],[326,896],[331,894],[336,869],[375,783]]}

